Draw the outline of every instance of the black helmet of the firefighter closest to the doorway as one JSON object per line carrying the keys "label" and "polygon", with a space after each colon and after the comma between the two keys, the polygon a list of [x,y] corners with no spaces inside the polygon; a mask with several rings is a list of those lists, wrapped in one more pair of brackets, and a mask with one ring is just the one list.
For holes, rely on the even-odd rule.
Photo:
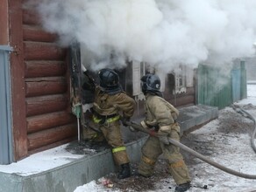
{"label": "black helmet of the firefighter closest to the doorway", "polygon": [[103,89],[116,89],[119,86],[119,76],[111,69],[102,69],[98,73],[100,86]]}

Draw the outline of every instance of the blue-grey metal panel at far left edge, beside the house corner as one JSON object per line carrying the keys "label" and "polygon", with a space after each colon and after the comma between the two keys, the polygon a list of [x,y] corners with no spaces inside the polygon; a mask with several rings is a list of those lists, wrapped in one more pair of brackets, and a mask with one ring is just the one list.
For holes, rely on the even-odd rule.
{"label": "blue-grey metal panel at far left edge, beside the house corner", "polygon": [[10,46],[0,45],[0,164],[13,161],[10,51]]}

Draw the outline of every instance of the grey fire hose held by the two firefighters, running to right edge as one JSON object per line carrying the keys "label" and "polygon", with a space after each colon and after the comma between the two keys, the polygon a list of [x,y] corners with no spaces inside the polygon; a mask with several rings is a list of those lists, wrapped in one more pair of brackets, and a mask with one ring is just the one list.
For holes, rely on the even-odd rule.
{"label": "grey fire hose held by the two firefighters, running to right edge", "polygon": [[[138,125],[135,122],[125,121],[125,123],[126,123],[127,126],[133,127],[134,129],[136,129],[138,131],[141,131],[141,132],[144,132],[146,134],[150,134],[150,135],[153,135],[153,136],[156,136],[156,137],[160,136],[160,134],[157,134],[157,133],[156,134],[152,134],[151,130],[146,129],[144,127],[141,127],[140,125]],[[245,178],[245,179],[256,179],[256,175],[247,175],[247,174],[243,174],[243,173],[240,173],[238,171],[235,171],[235,170],[233,170],[231,168],[226,168],[223,165],[220,165],[217,162],[212,161],[212,160],[206,158],[205,156],[203,156],[203,154],[199,154],[196,151],[192,150],[191,148],[181,144],[179,141],[175,141],[175,140],[173,140],[171,138],[168,138],[168,141],[171,144],[174,144],[175,146],[180,147],[181,149],[183,149],[184,151],[188,152],[189,154],[193,154],[194,156],[196,156],[200,160],[205,161],[208,164],[210,164],[211,166],[213,166],[215,168],[218,168],[218,169],[220,169],[220,170],[222,170],[222,171],[224,171],[224,172],[226,172],[228,174],[236,175],[238,177],[242,177],[242,178]]]}

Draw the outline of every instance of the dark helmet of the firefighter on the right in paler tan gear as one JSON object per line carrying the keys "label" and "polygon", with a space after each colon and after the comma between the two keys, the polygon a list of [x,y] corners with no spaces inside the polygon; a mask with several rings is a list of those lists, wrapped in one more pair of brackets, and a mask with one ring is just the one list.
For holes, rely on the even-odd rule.
{"label": "dark helmet of the firefighter on the right in paler tan gear", "polygon": [[158,93],[160,92],[160,78],[154,74],[146,74],[141,79],[141,89],[143,93],[153,92]]}

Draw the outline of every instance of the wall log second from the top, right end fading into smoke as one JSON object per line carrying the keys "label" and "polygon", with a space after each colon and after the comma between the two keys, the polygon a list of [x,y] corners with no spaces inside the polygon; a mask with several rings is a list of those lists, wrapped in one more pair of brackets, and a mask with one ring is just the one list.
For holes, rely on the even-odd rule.
{"label": "wall log second from the top, right end fading into smoke", "polygon": [[39,26],[23,25],[23,39],[25,41],[54,42],[56,34],[43,31]]}

